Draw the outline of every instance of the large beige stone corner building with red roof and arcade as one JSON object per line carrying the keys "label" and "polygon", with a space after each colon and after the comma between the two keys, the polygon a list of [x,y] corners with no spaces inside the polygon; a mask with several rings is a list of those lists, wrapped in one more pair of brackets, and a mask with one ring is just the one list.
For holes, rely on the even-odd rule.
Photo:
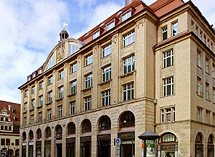
{"label": "large beige stone corner building with red roof and arcade", "polygon": [[191,1],[126,4],[19,87],[21,156],[140,157],[148,129],[159,157],[214,156],[214,29]]}

